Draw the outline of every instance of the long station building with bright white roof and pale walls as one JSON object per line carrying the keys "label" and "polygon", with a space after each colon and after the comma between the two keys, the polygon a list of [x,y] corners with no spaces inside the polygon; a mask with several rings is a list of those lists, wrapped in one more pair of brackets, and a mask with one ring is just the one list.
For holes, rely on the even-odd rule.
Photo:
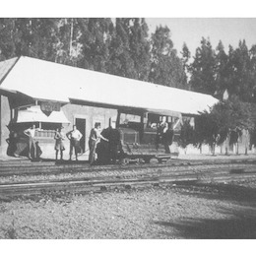
{"label": "long station building with bright white roof and pale walls", "polygon": [[[89,155],[89,135],[96,122],[108,127],[119,109],[138,109],[179,118],[194,116],[218,102],[213,96],[163,87],[31,57],[0,62],[0,157],[7,156],[10,130],[23,132],[35,124],[41,158],[54,159],[54,131],[74,124],[83,134],[81,148]],[[65,141],[64,159],[69,157]]]}

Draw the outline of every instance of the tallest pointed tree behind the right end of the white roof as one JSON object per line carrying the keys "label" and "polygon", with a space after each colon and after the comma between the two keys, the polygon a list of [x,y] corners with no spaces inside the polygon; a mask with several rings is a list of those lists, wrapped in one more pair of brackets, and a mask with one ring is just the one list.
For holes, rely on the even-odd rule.
{"label": "tallest pointed tree behind the right end of the white roof", "polygon": [[191,88],[193,91],[214,96],[216,92],[215,51],[210,39],[201,40],[201,47],[191,65]]}

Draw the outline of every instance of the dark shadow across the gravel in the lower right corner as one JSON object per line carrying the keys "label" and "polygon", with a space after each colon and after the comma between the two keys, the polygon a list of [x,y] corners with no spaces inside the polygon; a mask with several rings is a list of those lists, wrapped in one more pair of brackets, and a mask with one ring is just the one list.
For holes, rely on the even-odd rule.
{"label": "dark shadow across the gravel in the lower right corner", "polygon": [[[182,221],[154,222],[164,227],[167,237],[173,229],[179,238],[188,239],[255,239],[256,188],[235,184],[193,184],[182,186],[180,193],[208,200],[224,200],[228,207],[220,206],[217,212],[222,219],[187,219]],[[169,228],[169,231],[168,231]]]}

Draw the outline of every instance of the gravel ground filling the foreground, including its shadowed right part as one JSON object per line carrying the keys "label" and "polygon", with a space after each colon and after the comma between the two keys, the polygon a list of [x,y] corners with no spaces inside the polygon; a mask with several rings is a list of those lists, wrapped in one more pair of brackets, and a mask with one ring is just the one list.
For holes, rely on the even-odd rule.
{"label": "gravel ground filling the foreground, including its shadowed right part", "polygon": [[255,192],[251,180],[1,202],[0,238],[256,238]]}

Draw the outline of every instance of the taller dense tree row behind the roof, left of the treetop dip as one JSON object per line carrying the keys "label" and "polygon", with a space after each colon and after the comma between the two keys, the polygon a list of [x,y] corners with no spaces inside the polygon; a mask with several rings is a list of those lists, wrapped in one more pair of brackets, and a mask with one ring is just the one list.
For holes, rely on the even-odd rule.
{"label": "taller dense tree row behind the roof, left of the treetop dip", "polygon": [[0,19],[0,60],[20,55],[187,89],[169,29],[145,19]]}

